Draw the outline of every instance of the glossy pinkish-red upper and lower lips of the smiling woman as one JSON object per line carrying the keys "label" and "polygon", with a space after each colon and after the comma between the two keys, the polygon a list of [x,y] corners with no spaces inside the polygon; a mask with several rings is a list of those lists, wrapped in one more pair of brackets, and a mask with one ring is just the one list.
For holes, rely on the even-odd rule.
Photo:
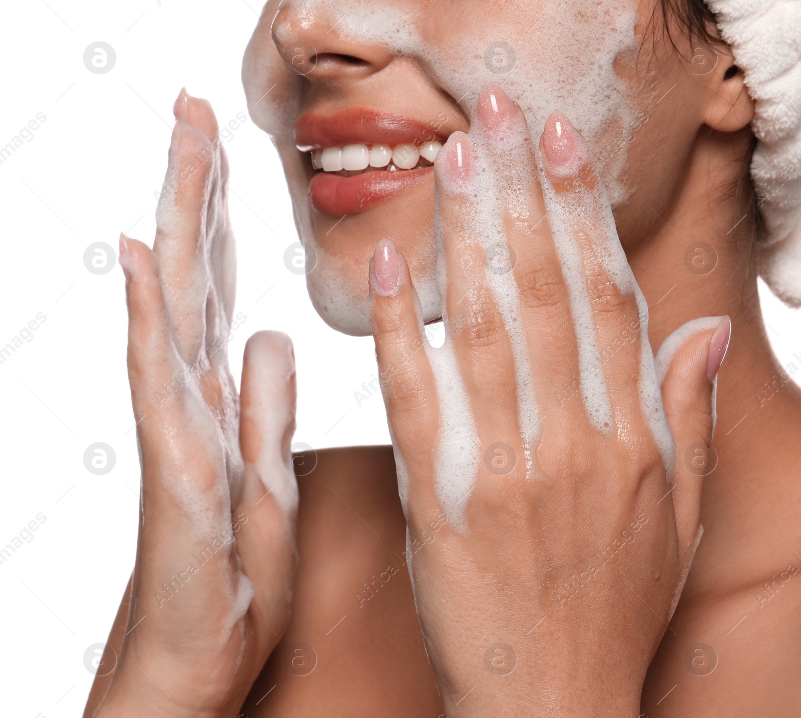
{"label": "glossy pinkish-red upper and lower lips of the smiling woman", "polygon": [[[445,139],[442,123],[426,123],[364,107],[349,107],[332,115],[309,112],[295,125],[295,141],[298,150],[304,153],[357,143],[387,146],[409,143],[421,147],[434,141],[445,143]],[[361,174],[349,177],[316,171],[308,185],[309,198],[317,212],[337,216],[358,214],[424,182],[432,169],[368,167]]]}

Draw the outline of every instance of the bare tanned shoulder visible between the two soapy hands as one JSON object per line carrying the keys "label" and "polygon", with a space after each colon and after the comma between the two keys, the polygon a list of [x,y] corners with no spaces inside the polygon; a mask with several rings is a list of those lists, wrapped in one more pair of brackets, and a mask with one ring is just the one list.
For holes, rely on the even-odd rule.
{"label": "bare tanned shoulder visible between the two soapy hands", "polygon": [[440,701],[405,566],[391,446],[296,456],[292,619],[242,713],[431,716]]}

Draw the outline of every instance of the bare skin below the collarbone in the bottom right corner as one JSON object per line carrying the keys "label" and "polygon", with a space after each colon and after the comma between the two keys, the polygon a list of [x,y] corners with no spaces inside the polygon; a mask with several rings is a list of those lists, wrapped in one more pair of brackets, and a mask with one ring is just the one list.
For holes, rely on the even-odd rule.
{"label": "bare skin below the collarbone in the bottom right corner", "polygon": [[679,604],[650,666],[643,718],[799,716],[801,559]]}

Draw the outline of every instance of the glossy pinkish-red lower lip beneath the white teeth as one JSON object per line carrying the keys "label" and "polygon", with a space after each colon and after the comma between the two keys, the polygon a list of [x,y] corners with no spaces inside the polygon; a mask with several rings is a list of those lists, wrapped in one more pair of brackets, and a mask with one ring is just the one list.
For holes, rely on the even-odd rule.
{"label": "glossy pinkish-red lower lip beneath the white teeth", "polygon": [[433,167],[370,170],[353,177],[318,171],[308,184],[308,195],[317,212],[355,215],[416,187],[432,171]]}

